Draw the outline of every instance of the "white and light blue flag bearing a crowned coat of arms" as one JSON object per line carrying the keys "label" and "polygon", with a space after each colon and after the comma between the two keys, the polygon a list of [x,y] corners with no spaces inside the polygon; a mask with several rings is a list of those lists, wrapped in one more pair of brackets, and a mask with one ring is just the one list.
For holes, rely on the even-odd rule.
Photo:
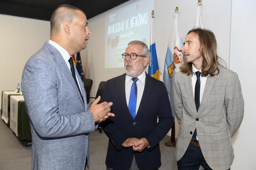
{"label": "white and light blue flag bearing a crowned coat of arms", "polygon": [[167,52],[165,56],[164,63],[164,85],[167,89],[167,92],[170,97],[170,103],[172,106],[172,115],[174,117],[173,111],[173,78],[176,72],[179,71],[179,66],[182,63],[182,39],[180,35],[180,29],[178,26],[178,19],[180,15],[179,12],[176,11],[174,14],[174,22],[172,25],[171,35],[169,39],[169,44],[167,47]]}

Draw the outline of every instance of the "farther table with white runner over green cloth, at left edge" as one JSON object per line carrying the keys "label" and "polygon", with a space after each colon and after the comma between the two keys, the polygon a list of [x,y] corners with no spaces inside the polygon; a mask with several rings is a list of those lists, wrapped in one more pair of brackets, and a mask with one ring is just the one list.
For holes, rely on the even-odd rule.
{"label": "farther table with white runner over green cloth, at left edge", "polygon": [[10,96],[12,95],[22,95],[22,92],[2,91],[1,117],[7,124],[10,124]]}

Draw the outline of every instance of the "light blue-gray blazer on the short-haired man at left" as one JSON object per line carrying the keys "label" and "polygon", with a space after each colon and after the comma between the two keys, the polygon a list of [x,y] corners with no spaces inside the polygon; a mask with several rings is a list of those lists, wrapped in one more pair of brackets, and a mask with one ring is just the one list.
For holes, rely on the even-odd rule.
{"label": "light blue-gray blazer on the short-haired man at left", "polygon": [[86,156],[89,166],[95,123],[78,79],[84,102],[63,57],[48,42],[26,63],[21,87],[32,133],[32,169],[84,170]]}

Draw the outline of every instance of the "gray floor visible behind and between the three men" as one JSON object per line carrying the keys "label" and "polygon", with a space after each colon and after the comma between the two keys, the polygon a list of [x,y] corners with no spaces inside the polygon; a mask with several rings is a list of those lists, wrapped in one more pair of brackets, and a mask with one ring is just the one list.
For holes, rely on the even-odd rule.
{"label": "gray floor visible behind and between the three men", "polygon": [[[0,120],[0,170],[29,170],[31,169],[31,146],[20,141],[12,129]],[[162,166],[159,170],[177,170],[174,159],[174,149],[164,145],[170,137],[166,136],[160,142]],[[90,170],[105,170],[108,137],[98,130],[90,133]]]}

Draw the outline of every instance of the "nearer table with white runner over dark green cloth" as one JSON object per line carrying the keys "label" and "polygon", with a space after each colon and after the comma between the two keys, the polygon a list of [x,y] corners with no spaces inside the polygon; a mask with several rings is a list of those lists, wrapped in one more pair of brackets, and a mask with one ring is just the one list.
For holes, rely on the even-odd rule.
{"label": "nearer table with white runner over dark green cloth", "polygon": [[20,140],[31,140],[28,114],[23,96],[10,97],[10,128]]}

